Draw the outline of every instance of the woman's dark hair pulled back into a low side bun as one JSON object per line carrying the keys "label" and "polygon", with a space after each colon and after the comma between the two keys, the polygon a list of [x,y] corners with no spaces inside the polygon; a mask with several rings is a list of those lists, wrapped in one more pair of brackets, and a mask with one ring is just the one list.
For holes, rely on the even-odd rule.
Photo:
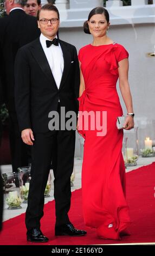
{"label": "woman's dark hair pulled back into a low side bun", "polygon": [[88,20],[83,23],[83,31],[86,34],[91,34],[89,31],[88,21],[91,20],[91,17],[95,14],[104,14],[106,17],[107,23],[109,23],[109,13],[104,7],[95,7],[91,12],[89,13]]}

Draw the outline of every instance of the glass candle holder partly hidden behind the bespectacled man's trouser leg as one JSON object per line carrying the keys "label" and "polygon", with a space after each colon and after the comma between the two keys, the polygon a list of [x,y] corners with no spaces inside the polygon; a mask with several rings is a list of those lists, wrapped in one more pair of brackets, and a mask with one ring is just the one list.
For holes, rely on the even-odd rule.
{"label": "glass candle holder partly hidden behind the bespectacled man's trouser leg", "polygon": [[31,168],[20,167],[18,168],[20,179],[20,194],[23,199],[23,203],[28,203],[29,185],[31,180]]}

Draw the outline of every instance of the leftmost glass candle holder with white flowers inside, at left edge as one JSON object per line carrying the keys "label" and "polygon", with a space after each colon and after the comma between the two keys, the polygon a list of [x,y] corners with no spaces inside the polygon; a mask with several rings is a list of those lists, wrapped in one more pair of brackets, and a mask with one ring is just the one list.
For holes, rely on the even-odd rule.
{"label": "leftmost glass candle holder with white flowers inside, at left edge", "polygon": [[5,200],[8,204],[8,209],[21,209],[21,203],[23,202],[20,195],[20,181],[18,173],[4,173],[5,182]]}

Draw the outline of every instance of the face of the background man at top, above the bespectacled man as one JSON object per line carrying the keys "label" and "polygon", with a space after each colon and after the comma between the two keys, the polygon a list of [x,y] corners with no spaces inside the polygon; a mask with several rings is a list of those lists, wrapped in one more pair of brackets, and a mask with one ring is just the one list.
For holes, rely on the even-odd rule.
{"label": "face of the background man at top, above the bespectacled man", "polygon": [[28,0],[24,6],[25,13],[31,16],[37,16],[38,10],[40,10],[41,4],[38,5],[37,0]]}

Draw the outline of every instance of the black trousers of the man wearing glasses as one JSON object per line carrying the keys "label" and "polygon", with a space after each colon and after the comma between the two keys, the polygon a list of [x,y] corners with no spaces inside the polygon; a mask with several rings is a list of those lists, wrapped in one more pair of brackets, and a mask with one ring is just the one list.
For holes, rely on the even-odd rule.
{"label": "black trousers of the man wearing glasses", "polygon": [[48,131],[34,134],[31,181],[25,224],[27,229],[40,228],[43,216],[44,190],[49,169],[54,170],[56,226],[69,223],[70,176],[74,166],[75,131]]}

